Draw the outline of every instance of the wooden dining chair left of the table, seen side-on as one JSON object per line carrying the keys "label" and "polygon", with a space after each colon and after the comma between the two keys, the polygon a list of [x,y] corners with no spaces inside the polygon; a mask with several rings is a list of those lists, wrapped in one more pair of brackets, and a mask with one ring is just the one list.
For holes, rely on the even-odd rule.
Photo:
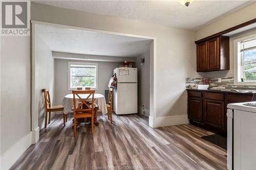
{"label": "wooden dining chair left of the table, seen side-on", "polygon": [[[49,89],[42,89],[42,92],[44,92],[44,99],[45,99],[45,128],[47,127],[47,119],[48,119],[48,124],[51,122],[51,112],[57,112],[57,111],[62,111],[64,110],[64,107],[62,105],[57,105],[57,106],[51,106],[51,98],[50,98],[50,93]],[[49,118],[48,118],[49,114]],[[67,114],[63,114],[63,125],[66,126],[67,122]]]}

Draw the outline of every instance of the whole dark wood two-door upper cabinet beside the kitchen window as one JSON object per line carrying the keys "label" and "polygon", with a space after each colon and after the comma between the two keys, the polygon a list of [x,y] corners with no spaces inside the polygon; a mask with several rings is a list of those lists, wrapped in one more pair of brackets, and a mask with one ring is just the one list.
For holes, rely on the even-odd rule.
{"label": "whole dark wood two-door upper cabinet beside the kitchen window", "polygon": [[197,71],[229,69],[229,37],[219,36],[197,44]]}

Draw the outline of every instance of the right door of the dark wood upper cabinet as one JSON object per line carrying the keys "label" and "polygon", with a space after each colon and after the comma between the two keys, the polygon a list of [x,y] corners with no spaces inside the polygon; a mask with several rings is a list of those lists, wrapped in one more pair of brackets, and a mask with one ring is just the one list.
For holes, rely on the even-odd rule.
{"label": "right door of the dark wood upper cabinet", "polygon": [[206,41],[207,48],[207,69],[220,68],[219,37]]}

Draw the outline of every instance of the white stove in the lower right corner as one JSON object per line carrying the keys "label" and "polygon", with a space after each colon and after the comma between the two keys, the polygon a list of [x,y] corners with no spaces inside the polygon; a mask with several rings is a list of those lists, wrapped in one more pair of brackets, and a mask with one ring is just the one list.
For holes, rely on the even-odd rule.
{"label": "white stove in the lower right corner", "polygon": [[254,105],[256,102],[227,105],[227,168],[229,170],[256,170],[256,107]]}

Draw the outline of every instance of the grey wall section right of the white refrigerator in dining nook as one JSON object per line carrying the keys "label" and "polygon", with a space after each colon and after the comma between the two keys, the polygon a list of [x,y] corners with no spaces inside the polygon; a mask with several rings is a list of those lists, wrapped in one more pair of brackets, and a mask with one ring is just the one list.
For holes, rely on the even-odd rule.
{"label": "grey wall section right of the white refrigerator in dining nook", "polygon": [[[141,58],[145,58],[143,65]],[[150,51],[138,56],[135,64],[138,68],[138,106],[144,104],[145,109],[150,110]]]}

